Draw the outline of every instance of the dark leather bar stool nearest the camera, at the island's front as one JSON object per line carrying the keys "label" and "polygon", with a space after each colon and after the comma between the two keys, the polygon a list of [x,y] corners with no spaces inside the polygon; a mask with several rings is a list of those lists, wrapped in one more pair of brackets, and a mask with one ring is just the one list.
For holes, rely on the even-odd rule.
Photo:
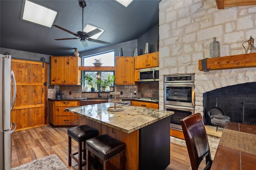
{"label": "dark leather bar stool nearest the camera, at the island's front", "polygon": [[[100,135],[86,141],[86,156],[90,153],[103,160],[104,170],[108,170],[108,160],[120,154],[120,170],[125,169],[125,143],[118,141],[108,135]],[[87,160],[86,170],[90,170],[90,160]]]}

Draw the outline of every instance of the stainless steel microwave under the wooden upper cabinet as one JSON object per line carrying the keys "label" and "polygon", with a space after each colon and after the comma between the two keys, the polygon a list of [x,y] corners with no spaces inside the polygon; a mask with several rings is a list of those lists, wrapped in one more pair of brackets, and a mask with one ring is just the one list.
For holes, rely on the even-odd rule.
{"label": "stainless steel microwave under the wooden upper cabinet", "polygon": [[142,68],[140,72],[140,82],[159,81],[159,67]]}

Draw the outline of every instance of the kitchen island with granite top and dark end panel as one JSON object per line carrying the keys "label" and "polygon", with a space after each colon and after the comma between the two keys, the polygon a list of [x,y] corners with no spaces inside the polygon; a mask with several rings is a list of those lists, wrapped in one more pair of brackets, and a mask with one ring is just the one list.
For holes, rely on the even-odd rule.
{"label": "kitchen island with granite top and dark end panel", "polygon": [[[108,111],[114,103],[66,108],[80,115],[79,124],[98,129],[99,135],[126,143],[126,170],[164,170],[170,164],[170,115],[172,111],[126,106],[122,111]],[[120,167],[119,156],[110,160]]]}

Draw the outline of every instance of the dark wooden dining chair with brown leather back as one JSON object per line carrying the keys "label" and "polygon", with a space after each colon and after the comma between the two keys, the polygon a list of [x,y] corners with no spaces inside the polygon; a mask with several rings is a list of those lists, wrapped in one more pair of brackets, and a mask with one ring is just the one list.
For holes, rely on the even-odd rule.
{"label": "dark wooden dining chair with brown leather back", "polygon": [[210,170],[212,158],[201,114],[196,113],[185,117],[180,120],[180,123],[185,137],[192,170],[198,170],[198,166],[204,158],[206,158],[204,170]]}

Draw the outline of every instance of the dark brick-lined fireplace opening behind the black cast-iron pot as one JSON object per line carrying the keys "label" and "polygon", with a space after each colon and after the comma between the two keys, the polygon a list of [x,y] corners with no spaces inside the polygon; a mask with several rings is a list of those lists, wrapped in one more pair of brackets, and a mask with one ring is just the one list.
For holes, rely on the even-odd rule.
{"label": "dark brick-lined fireplace opening behind the black cast-iron pot", "polygon": [[207,112],[212,107],[216,107],[216,98],[217,106],[230,117],[230,121],[243,123],[244,119],[244,123],[256,125],[256,82],[222,87],[204,93],[205,125],[214,126]]}

